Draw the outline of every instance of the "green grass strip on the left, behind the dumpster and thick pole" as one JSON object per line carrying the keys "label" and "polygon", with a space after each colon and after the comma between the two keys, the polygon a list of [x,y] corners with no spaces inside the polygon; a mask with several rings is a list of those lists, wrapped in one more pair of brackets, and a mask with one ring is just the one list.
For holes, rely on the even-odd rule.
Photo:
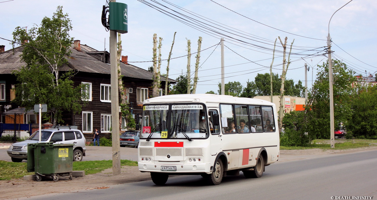
{"label": "green grass strip on the left, behind the dumpster and thick pole", "polygon": [[[28,172],[28,163],[13,163],[0,160],[0,180],[11,180],[14,178],[22,178],[25,175],[35,174]],[[138,162],[130,160],[121,160],[121,166],[137,166]],[[99,160],[99,161],[81,161],[73,162],[73,171],[84,170],[85,174],[96,174],[109,169],[113,166],[112,160]]]}

